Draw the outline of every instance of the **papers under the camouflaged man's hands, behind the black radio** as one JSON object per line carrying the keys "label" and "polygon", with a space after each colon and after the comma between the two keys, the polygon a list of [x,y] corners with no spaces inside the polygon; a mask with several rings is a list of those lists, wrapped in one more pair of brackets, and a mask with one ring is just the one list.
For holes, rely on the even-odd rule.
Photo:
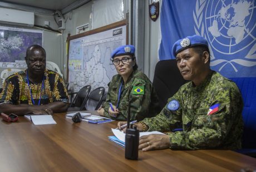
{"label": "papers under the camouflaged man's hands, behind the black radio", "polygon": [[[125,147],[125,133],[122,130],[119,129],[113,129],[112,132],[115,136],[109,136],[109,139],[111,141],[114,141],[115,143],[124,146]],[[159,131],[147,131],[147,132],[140,132],[140,137],[143,135],[149,135],[149,134],[164,134]]]}

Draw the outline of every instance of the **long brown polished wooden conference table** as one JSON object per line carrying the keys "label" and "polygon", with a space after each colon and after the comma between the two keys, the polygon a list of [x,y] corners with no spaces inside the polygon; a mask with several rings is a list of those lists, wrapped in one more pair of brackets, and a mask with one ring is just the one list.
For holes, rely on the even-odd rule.
{"label": "long brown polished wooden conference table", "polygon": [[[96,114],[96,112],[92,112]],[[19,117],[0,121],[0,171],[241,171],[256,159],[230,150],[139,150],[125,159],[125,148],[110,141],[117,122],[73,123],[66,113],[57,124],[34,125]]]}

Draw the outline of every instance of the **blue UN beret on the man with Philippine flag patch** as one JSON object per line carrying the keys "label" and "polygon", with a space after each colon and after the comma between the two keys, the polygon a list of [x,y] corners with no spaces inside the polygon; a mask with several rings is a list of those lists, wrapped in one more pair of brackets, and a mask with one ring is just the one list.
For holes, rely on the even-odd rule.
{"label": "blue UN beret on the man with Philippine flag patch", "polygon": [[180,39],[176,41],[173,45],[173,56],[176,57],[176,55],[184,49],[195,47],[198,45],[203,45],[208,48],[207,40],[201,36],[194,35],[188,36],[184,39]]}

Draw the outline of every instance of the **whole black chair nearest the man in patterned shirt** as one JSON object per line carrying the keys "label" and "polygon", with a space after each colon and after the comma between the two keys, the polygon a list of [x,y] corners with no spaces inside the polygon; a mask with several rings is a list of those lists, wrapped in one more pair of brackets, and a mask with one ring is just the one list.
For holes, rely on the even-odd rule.
{"label": "whole black chair nearest the man in patterned shirt", "polygon": [[[67,109],[68,112],[85,110],[85,103],[91,90],[91,85],[86,85],[81,88],[77,93],[70,107]],[[75,94],[75,93],[72,93]]]}

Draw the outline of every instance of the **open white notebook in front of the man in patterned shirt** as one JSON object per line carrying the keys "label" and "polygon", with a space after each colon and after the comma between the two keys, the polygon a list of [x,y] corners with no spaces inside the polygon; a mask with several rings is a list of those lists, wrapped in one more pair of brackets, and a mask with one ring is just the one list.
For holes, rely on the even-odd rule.
{"label": "open white notebook in front of the man in patterned shirt", "polygon": [[35,125],[56,124],[52,115],[24,115],[24,117],[31,120]]}

